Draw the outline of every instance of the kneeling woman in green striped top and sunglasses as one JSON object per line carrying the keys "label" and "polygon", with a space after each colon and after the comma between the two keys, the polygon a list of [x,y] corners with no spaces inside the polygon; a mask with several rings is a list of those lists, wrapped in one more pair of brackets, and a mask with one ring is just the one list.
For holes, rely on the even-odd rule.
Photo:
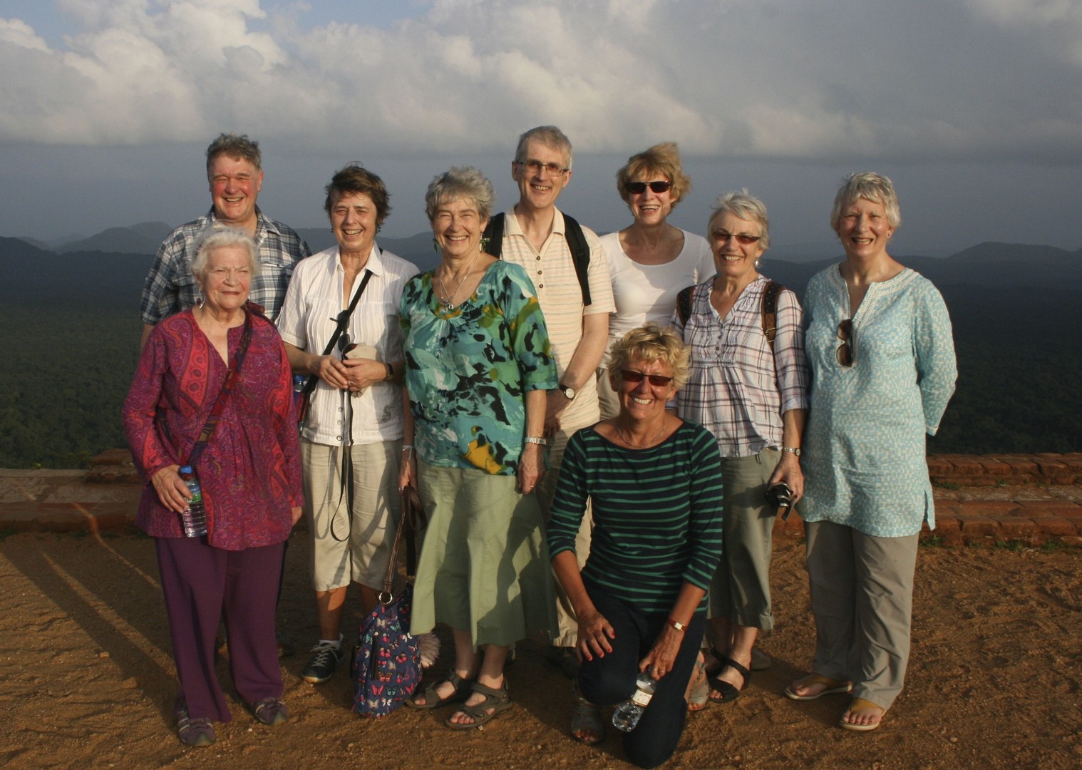
{"label": "kneeling woman in green striped top and sunglasses", "polygon": [[[598,706],[626,699],[650,669],[654,699],[624,738],[628,759],[644,768],[672,756],[684,730],[684,692],[722,550],[717,444],[665,412],[687,381],[688,358],[679,338],[654,324],[613,345],[620,413],[571,438],[549,521],[553,569],[579,618],[572,735],[599,743]],[[588,498],[594,534],[580,572],[575,534]]]}

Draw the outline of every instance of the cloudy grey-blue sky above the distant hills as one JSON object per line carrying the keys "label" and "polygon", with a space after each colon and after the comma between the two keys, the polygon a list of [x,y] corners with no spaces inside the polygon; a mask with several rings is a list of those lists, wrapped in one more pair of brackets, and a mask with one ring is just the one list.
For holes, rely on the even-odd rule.
{"label": "cloudy grey-blue sky above the distant hills", "polygon": [[2,0],[0,235],[179,224],[209,206],[202,152],[259,139],[261,205],[322,226],[360,160],[386,233],[424,186],[479,166],[515,199],[517,135],[576,149],[562,207],[630,222],[613,174],[678,142],[702,232],[747,186],[775,245],[824,245],[843,174],[889,174],[895,253],[981,240],[1082,248],[1082,0]]}

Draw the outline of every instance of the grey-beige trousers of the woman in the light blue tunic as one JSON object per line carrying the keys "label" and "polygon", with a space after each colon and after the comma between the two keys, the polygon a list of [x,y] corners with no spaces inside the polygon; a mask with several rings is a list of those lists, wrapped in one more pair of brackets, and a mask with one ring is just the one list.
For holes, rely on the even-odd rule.
{"label": "grey-beige trousers of the woman in the light blue tunic", "polygon": [[854,697],[889,708],[909,662],[918,535],[875,537],[805,523],[815,614],[813,670],[853,681]]}

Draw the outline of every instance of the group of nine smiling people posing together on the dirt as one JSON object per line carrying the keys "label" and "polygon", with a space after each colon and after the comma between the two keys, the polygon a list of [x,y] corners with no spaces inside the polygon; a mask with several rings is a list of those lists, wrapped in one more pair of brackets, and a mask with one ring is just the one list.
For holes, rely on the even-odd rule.
{"label": "group of nine smiling people posing together on the dirt", "polygon": [[[258,144],[208,147],[213,205],[158,252],[124,404],[182,742],[230,719],[220,621],[238,695],[265,725],[289,718],[275,605],[302,509],[319,639],[301,676],[333,676],[347,588],[374,608],[407,485],[430,517],[411,630],[453,638],[446,677],[407,705],[451,706],[448,728],[511,707],[514,643],[547,631],[575,679],[572,736],[601,742],[602,707],[646,671],[654,696],[624,748],[665,761],[688,710],[770,665],[754,648],[774,625],[770,537],[797,501],[817,649],[784,694],[852,693],[841,726],[879,726],[905,677],[918,533],[935,523],[923,436],[955,379],[941,297],[887,253],[890,181],[845,181],[831,226],[846,259],[802,308],[758,272],[768,219],[747,191],[715,201],[705,238],[668,223],[690,190],[675,144],[620,169],[633,221],[602,238],[556,207],[572,161],[556,127],[524,133],[503,213],[477,169],[438,174],[440,261],[420,273],[375,243],[391,207],[370,170],[334,174],[338,245],[309,257],[256,206]],[[300,435],[294,376],[313,386]],[[185,465],[201,537],[181,526]]]}

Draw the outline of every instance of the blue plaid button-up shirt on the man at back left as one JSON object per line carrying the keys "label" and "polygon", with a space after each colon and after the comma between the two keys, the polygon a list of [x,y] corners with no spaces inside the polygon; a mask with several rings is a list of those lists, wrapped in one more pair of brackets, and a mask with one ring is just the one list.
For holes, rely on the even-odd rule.
{"label": "blue plaid button-up shirt on the man at back left", "polygon": [[[293,267],[307,257],[308,245],[281,222],[275,222],[255,209],[255,257],[260,269],[252,276],[249,299],[263,308],[267,318],[278,316]],[[182,224],[169,234],[155,256],[154,265],[143,286],[140,311],[143,323],[155,325],[193,306],[199,299],[199,285],[192,275],[196,240],[215,221],[214,209],[197,220]]]}

